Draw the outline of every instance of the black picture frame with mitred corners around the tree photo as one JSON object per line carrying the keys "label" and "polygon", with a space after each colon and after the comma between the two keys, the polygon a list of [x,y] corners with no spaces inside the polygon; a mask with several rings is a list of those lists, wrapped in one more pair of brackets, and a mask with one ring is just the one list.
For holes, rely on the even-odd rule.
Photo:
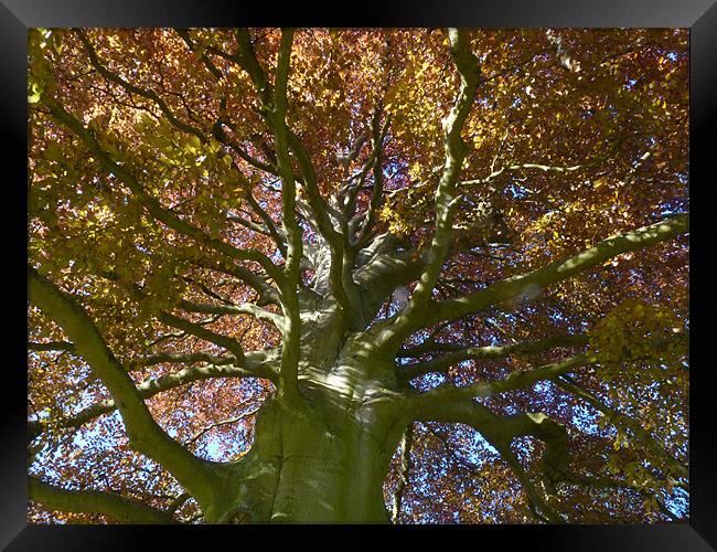
{"label": "black picture frame with mitred corners around the tree photo", "polygon": [[[697,201],[691,206],[691,295],[692,323],[691,357],[691,516],[689,523],[657,526],[472,526],[472,527],[395,527],[372,528],[384,537],[395,535],[406,544],[406,539],[425,539],[427,534],[442,540],[448,531],[451,544],[458,534],[469,537],[471,546],[485,549],[515,544],[520,540],[532,549],[580,551],[702,551],[717,548],[717,477],[715,476],[714,437],[710,423],[711,388],[708,383],[710,365],[699,352],[709,339],[709,293],[707,258],[710,248],[709,210],[710,183],[717,184],[711,167],[710,135],[715,128],[717,106],[717,4],[714,0],[512,0],[494,3],[453,0],[414,2],[370,2],[311,8],[306,3],[293,7],[271,7],[267,3],[229,2],[228,0],[0,0],[0,110],[2,113],[7,156],[6,168],[14,168],[11,178],[3,171],[6,194],[20,189],[26,180],[26,32],[36,26],[442,26],[520,28],[520,26],[683,26],[691,29],[691,195]],[[709,178],[711,177],[711,179]],[[0,182],[2,181],[0,180]],[[715,182],[715,183],[713,183]],[[20,194],[22,197],[22,193]],[[12,200],[20,202],[21,199]],[[26,191],[25,191],[26,202]],[[1,219],[10,223],[4,245],[8,265],[12,266],[6,289],[17,289],[23,256],[22,233],[26,242],[26,217],[14,203],[6,204]],[[11,211],[12,213],[8,213]],[[17,214],[14,214],[17,213]],[[14,215],[12,215],[14,214]],[[713,215],[714,216],[714,215]],[[13,222],[14,220],[14,222]],[[12,253],[12,255],[10,255]],[[15,264],[17,262],[17,264]],[[15,273],[17,267],[17,273]],[[18,276],[20,277],[20,276]],[[21,282],[21,280],[20,280]],[[12,286],[12,287],[10,287]],[[7,305],[6,319],[12,329],[20,328],[20,318],[26,316],[26,300],[19,293],[14,306]],[[696,300],[695,300],[696,299]],[[707,321],[707,322],[705,322]],[[206,545],[207,537],[217,531],[228,544],[248,545],[249,539],[265,539],[268,528],[243,527],[147,527],[147,526],[29,526],[28,524],[28,463],[26,463],[26,378],[22,365],[26,362],[18,330],[8,335],[2,382],[2,417],[0,427],[2,455],[0,470],[0,546],[7,550],[128,550],[147,548],[156,539],[179,540],[183,548]],[[315,527],[281,528],[280,533],[313,532]],[[365,527],[323,527],[356,532],[356,540],[367,543]],[[228,533],[227,531],[232,531]],[[277,529],[268,533],[272,538]],[[456,533],[456,531],[458,531]],[[212,533],[210,535],[210,532]],[[153,539],[149,539],[152,537]],[[237,542],[239,539],[239,542]],[[323,540],[323,539],[322,539]],[[311,543],[315,541],[308,541]],[[328,545],[330,541],[324,541]],[[344,541],[345,542],[345,541]],[[164,541],[162,548],[169,546]]]}

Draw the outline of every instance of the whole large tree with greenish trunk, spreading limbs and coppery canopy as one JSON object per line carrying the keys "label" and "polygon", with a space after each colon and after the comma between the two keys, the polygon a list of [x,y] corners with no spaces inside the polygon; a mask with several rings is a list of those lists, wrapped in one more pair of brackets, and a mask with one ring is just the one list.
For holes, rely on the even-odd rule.
{"label": "whole large tree with greenish trunk, spreading limbs and coppery canopy", "polygon": [[685,30],[32,30],[30,512],[686,516]]}

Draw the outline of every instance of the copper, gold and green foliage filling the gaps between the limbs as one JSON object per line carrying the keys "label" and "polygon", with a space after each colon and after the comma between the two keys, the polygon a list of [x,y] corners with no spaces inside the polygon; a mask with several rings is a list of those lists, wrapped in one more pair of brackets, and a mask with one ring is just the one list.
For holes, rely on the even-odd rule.
{"label": "copper, gold and green foliage filling the gaps between the limbs", "polygon": [[[247,73],[231,59],[236,35],[221,29],[191,30],[186,36],[194,51],[173,30],[30,34],[30,263],[86,309],[138,384],[186,365],[142,364],[148,357],[226,353],[201,337],[180,335],[158,318],[161,312],[202,322],[204,329],[236,340],[245,352],[281,343],[281,332],[268,319],[182,311],[182,301],[218,306],[263,298],[227,274],[226,258],[207,243],[152,216],[50,113],[47,98],[85,125],[109,158],[138,176],[146,192],[179,220],[213,240],[255,250],[283,269],[285,258],[256,209],[280,229],[281,183],[216,139],[217,121],[224,121],[220,127],[225,140],[260,163],[274,162],[274,136],[259,97]],[[250,36],[272,81],[280,31],[250,30]],[[685,30],[475,30],[468,36],[481,81],[462,128],[468,155],[458,190],[463,199],[454,213],[436,300],[687,211]],[[88,44],[106,71],[129,86],[97,70]],[[372,117],[381,106],[381,123],[388,125],[385,194],[373,223],[376,233],[392,232],[407,247],[425,251],[434,233],[434,197],[445,160],[443,118],[459,85],[447,34],[299,30],[290,62],[286,120],[313,162],[322,197],[329,201],[345,193],[342,181],[371,161],[371,147],[360,147],[355,156],[351,148],[360,136],[371,136]],[[370,209],[373,179],[368,174],[357,193],[358,213]],[[299,189],[298,197],[306,200],[306,190]],[[308,243],[315,235],[304,226]],[[589,350],[606,365],[580,372],[572,383],[640,420],[663,448],[686,461],[687,252],[682,235],[614,256],[603,266],[536,289],[529,300],[429,328],[405,347],[419,344],[428,333],[438,342],[488,346],[591,332]],[[255,261],[239,264],[264,274]],[[310,285],[313,273],[307,269],[301,277]],[[409,285],[406,294],[411,289]],[[278,306],[265,308],[280,318]],[[377,317],[389,312],[388,302]],[[66,339],[35,307],[29,317],[30,341]],[[634,343],[640,347],[631,349]],[[631,349],[630,354],[623,349]],[[427,390],[439,380],[458,385],[495,380],[557,361],[564,352],[558,348],[467,360],[414,385]],[[265,379],[206,379],[158,393],[147,403],[158,423],[190,450],[228,460],[252,446],[254,412],[274,389]],[[64,427],[63,421],[107,399],[101,382],[72,350],[32,350],[29,414],[43,432],[31,444],[31,474],[68,488],[113,490],[168,508],[182,489],[161,466],[129,448],[117,412]],[[504,415],[544,412],[569,427],[577,473],[629,477],[646,492],[577,484],[548,490],[569,521],[662,520],[664,505],[677,517],[686,511],[677,477],[665,465],[643,461],[650,453],[634,435],[616,429],[554,382],[496,394],[484,404]],[[528,477],[542,469],[542,446],[532,438],[512,445]],[[473,429],[417,424],[410,454],[399,522],[534,520],[515,475]],[[398,465],[396,459],[385,482],[387,503],[397,488]],[[659,497],[660,502],[645,497]],[[201,519],[193,500],[178,506],[176,514],[185,521]],[[30,519],[108,521],[100,514],[47,511],[38,503],[31,506]]]}

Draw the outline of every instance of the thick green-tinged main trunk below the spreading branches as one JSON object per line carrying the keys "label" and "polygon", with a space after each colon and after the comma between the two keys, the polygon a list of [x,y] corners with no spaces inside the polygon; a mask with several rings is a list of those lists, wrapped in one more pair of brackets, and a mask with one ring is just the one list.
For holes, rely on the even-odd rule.
{"label": "thick green-tinged main trunk below the spreading branches", "polygon": [[403,401],[372,378],[376,365],[308,372],[298,402],[263,405],[238,465],[239,500],[216,521],[390,522],[383,484],[408,423]]}

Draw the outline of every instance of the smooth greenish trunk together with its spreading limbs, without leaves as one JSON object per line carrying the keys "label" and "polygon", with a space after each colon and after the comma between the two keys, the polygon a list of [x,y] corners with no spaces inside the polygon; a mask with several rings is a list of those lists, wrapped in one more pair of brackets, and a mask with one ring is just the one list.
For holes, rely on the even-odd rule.
{"label": "smooth greenish trunk together with its spreading limbs, without leaves", "polygon": [[[188,32],[181,31],[179,35],[194,50]],[[585,348],[588,338],[572,333],[484,347],[440,343],[432,339],[413,344],[407,341],[420,330],[536,296],[543,288],[597,267],[617,255],[671,240],[689,230],[688,214],[677,214],[656,224],[613,235],[533,272],[495,282],[468,295],[439,300],[435,290],[440,284],[446,261],[452,254],[453,212],[465,187],[488,184],[506,170],[537,169],[565,173],[588,166],[560,168],[520,163],[499,170],[491,166],[485,179],[460,181],[463,161],[469,153],[468,145],[461,138],[463,125],[479,87],[485,82],[479,59],[472,53],[471,42],[464,33],[458,30],[448,33],[460,87],[452,109],[443,119],[445,163],[435,197],[435,230],[426,242],[428,247],[422,250],[414,248],[410,243],[404,246],[398,237],[387,233],[375,235],[377,229],[373,223],[385,193],[382,144],[388,128],[387,118],[381,125],[379,109],[372,120],[373,151],[358,181],[363,184],[367,172],[374,171],[374,185],[366,210],[356,213],[358,188],[352,190],[345,202],[342,200],[343,210],[336,210],[322,197],[317,177],[320,172],[312,166],[299,136],[287,124],[293,31],[283,30],[281,33],[274,74],[265,73],[263,57],[257,57],[254,52],[248,30],[236,32],[238,50],[234,54],[208,46],[214,55],[238,64],[256,88],[258,112],[271,135],[272,149],[267,156],[270,166],[249,157],[229,140],[222,130],[225,115],[210,125],[211,135],[207,131],[210,126],[202,129],[182,123],[158,93],[140,88],[113,73],[84,32],[78,32],[78,36],[92,65],[108,82],[130,95],[149,100],[178,130],[192,135],[202,144],[208,144],[214,136],[255,168],[281,180],[279,224],[253,198],[247,178],[237,169],[239,182],[248,188],[247,201],[263,224],[240,217],[234,217],[234,222],[274,238],[283,265],[275,264],[274,257],[259,251],[217,238],[173,210],[165,209],[160,198],[151,194],[152,188],[143,182],[141,173],[135,174],[131,166],[114,159],[108,150],[103,149],[101,134],[96,135],[58,99],[45,97],[42,100],[52,118],[79,138],[93,159],[131,192],[151,219],[223,259],[221,263],[197,261],[197,267],[228,274],[258,294],[256,304],[227,305],[221,295],[210,294],[222,305],[182,299],[173,308],[190,314],[254,316],[269,321],[281,332],[281,346],[245,352],[235,337],[216,333],[183,318],[181,312],[161,311],[157,316],[159,322],[179,328],[225,352],[222,355],[216,352],[169,352],[148,357],[137,365],[164,362],[207,364],[188,365],[137,384],[128,373],[137,365],[124,365],[117,358],[100,333],[101,325],[92,320],[92,309],[87,311],[83,307],[83,298],[63,291],[62,286],[29,265],[31,302],[55,321],[71,340],[31,343],[30,349],[62,350],[82,357],[111,395],[111,399],[65,420],[64,427],[79,427],[117,410],[130,446],[165,468],[186,496],[195,499],[204,520],[210,523],[389,523],[392,516],[386,508],[383,485],[399,440],[413,422],[461,423],[480,432],[516,475],[536,517],[543,521],[561,522],[563,518],[534,485],[510,445],[515,437],[535,437],[545,445],[542,461],[544,475],[549,476],[547,482],[585,481],[582,476],[569,473],[566,427],[543,413],[499,415],[475,402],[475,397],[527,389],[539,381],[557,380],[564,390],[609,414],[611,421],[625,425],[643,440],[650,439],[638,421],[622,420],[617,411],[585,390],[570,381],[559,380],[595,362],[592,354],[585,351],[531,370],[514,370],[495,381],[479,381],[463,386],[443,384],[422,393],[410,385],[411,379],[446,372],[465,360],[501,359],[558,347]],[[211,59],[200,54],[212,75],[221,77],[222,72]],[[356,144],[354,149],[358,150],[350,153],[354,157],[362,142]],[[301,193],[300,188],[303,190]],[[304,226],[311,227],[315,242],[306,238]],[[240,263],[254,263],[260,270],[252,270]],[[314,273],[312,283],[303,277],[304,267]],[[106,277],[106,274],[100,276]],[[408,295],[410,283],[416,285]],[[127,287],[133,299],[141,295],[137,285]],[[405,290],[404,305],[393,299],[397,289]],[[280,314],[261,308],[269,304],[278,306]],[[397,306],[389,316],[378,317],[384,304]],[[439,352],[446,354],[437,357]],[[430,360],[418,360],[410,365],[398,360],[419,359],[426,353],[430,354]],[[195,456],[157,423],[145,402],[160,392],[210,378],[261,378],[271,380],[276,386],[276,393],[257,412],[253,446],[233,461],[215,463]],[[40,421],[32,424],[30,434],[35,438],[44,429]],[[651,448],[663,460],[666,459],[677,475],[687,479],[686,468],[668,453],[656,445]],[[402,493],[407,484],[409,437],[405,438],[402,449],[404,473],[394,502],[394,521],[398,519]],[[30,491],[33,500],[51,508],[96,511],[125,522],[174,521],[171,508],[157,510],[119,495],[62,489],[40,480],[31,482]]]}

